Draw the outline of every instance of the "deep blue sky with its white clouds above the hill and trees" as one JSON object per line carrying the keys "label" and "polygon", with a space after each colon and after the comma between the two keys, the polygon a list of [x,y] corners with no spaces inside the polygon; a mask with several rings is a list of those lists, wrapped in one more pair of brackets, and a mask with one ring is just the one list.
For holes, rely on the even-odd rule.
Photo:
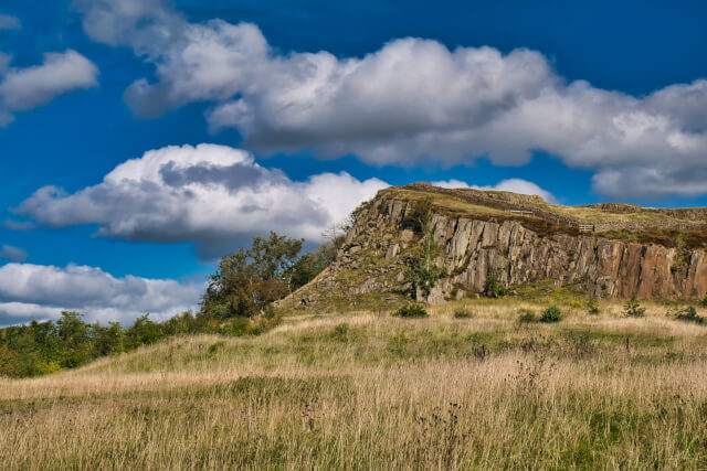
{"label": "deep blue sky with its white clouds above the hill and trees", "polygon": [[0,324],[169,315],[218,254],[270,228],[316,244],[386,184],[707,205],[706,20],[679,1],[4,0]]}

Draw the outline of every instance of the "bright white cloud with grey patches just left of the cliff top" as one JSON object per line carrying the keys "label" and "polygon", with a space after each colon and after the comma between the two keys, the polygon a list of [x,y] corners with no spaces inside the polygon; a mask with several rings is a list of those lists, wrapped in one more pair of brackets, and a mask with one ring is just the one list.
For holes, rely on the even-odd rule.
{"label": "bright white cloud with grey patches just left of the cliff top", "polygon": [[44,186],[17,213],[51,227],[97,224],[98,234],[128,240],[194,242],[204,258],[277,231],[308,240],[387,184],[348,173],[295,182],[230,147],[166,147],[68,194]]}

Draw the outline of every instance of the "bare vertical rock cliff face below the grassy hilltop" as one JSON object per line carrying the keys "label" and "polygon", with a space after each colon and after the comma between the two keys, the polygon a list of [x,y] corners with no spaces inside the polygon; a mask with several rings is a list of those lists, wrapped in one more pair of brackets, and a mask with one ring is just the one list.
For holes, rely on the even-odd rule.
{"label": "bare vertical rock cliff face below the grassy hilltop", "polygon": [[[358,214],[337,260],[300,293],[404,292],[407,254],[419,235],[407,228],[414,203],[379,194]],[[704,249],[683,250],[571,232],[542,234],[523,218],[445,214],[433,210],[436,265],[445,275],[428,301],[481,293],[489,275],[506,286],[547,279],[581,283],[597,298],[701,298],[707,292]],[[308,290],[307,290],[308,288]],[[313,291],[314,290],[314,291]]]}

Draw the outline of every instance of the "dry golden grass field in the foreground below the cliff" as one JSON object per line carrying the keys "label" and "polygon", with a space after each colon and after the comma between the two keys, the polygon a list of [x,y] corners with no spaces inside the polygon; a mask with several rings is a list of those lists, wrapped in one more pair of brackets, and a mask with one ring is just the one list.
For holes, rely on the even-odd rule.
{"label": "dry golden grass field in the foreground below the cliff", "polygon": [[289,318],[0,379],[4,469],[705,469],[707,328],[513,301]]}

